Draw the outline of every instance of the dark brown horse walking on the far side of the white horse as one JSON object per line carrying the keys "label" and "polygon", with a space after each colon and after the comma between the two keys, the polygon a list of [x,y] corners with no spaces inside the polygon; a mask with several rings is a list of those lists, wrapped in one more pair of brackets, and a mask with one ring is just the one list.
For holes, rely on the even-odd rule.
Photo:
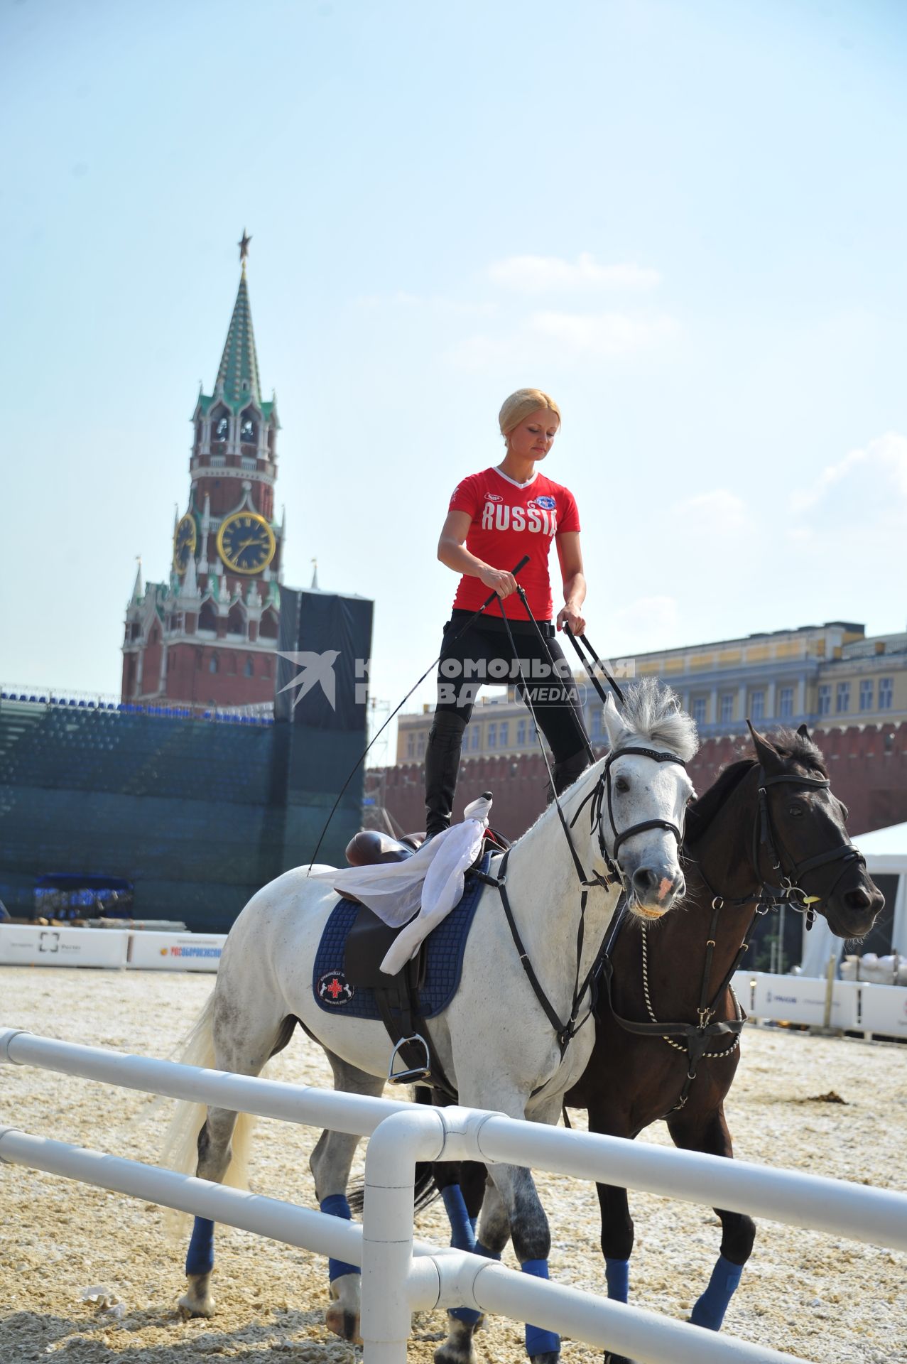
{"label": "dark brown horse walking on the far side of the white horse", "polygon": [[[885,903],[847,836],[847,812],[829,790],[822,756],[805,726],[772,738],[753,731],[753,743],[756,760],[728,767],[689,807],[681,913],[653,926],[634,919],[612,941],[595,1050],[566,1098],[569,1108],[588,1110],[592,1132],[636,1138],[664,1120],[675,1146],[732,1155],[724,1097],[739,1060],[742,1011],[730,978],[743,960],[757,911],[784,899],[806,914],[822,914],[839,937],[859,938]],[[438,1166],[435,1178],[454,1239],[464,1245],[465,1215],[481,1204],[484,1168]],[[626,1189],[599,1184],[597,1192],[608,1296],[626,1301],[633,1249]],[[720,1256],[692,1314],[712,1330],[722,1324],[756,1234],[752,1218],[716,1213]],[[499,1254],[502,1245],[501,1219],[486,1210],[477,1254]],[[439,1364],[473,1357],[475,1315],[451,1314],[450,1337],[435,1353]],[[606,1361],[627,1364],[616,1354],[606,1354]]]}

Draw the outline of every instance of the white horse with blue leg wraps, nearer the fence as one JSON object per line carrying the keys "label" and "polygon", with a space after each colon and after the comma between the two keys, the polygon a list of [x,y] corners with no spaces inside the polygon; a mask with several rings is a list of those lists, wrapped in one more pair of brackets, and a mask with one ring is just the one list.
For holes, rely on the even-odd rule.
{"label": "white horse with blue leg wraps, nearer the fence", "polygon": [[[577,981],[591,974],[622,888],[631,911],[646,919],[660,918],[685,892],[678,843],[693,794],[683,767],[697,747],[693,722],[679,711],[672,692],[646,679],[629,689],[621,715],[608,698],[604,723],[611,752],[561,798],[566,824],[576,818],[571,836],[585,887],[554,806],[507,855],[506,893],[516,928],[540,989],[565,1023],[571,1009],[577,1023],[591,1009],[589,989],[574,1001]],[[499,866],[501,859],[492,874]],[[236,919],[184,1060],[258,1075],[299,1020],[325,1048],[336,1088],[379,1095],[391,1057],[383,1024],[327,1013],[314,997],[315,953],[338,898],[323,881],[308,878],[307,870],[296,868],[277,877]],[[608,876],[610,870],[618,874]],[[584,889],[588,903],[577,963]],[[461,1103],[540,1123],[558,1121],[563,1095],[582,1075],[595,1041],[592,1020],[558,1038],[520,960],[502,892],[494,885],[481,889],[460,986],[427,1027]],[[198,1146],[195,1173],[222,1181],[231,1161],[243,1157],[243,1129],[235,1138],[236,1113],[226,1109],[209,1108],[202,1125],[203,1113],[198,1105],[180,1105],[169,1157],[191,1170],[188,1157]],[[346,1181],[357,1143],[355,1136],[323,1132],[311,1157],[322,1209],[341,1217],[349,1217]],[[501,1241],[505,1225],[521,1266],[547,1277],[548,1222],[529,1170],[494,1165],[491,1178],[480,1240],[486,1245]],[[180,1300],[184,1312],[211,1315],[213,1263],[213,1224],[196,1218],[185,1266],[188,1290]],[[331,1278],[327,1326],[355,1339],[359,1273],[331,1264]],[[531,1357],[555,1360],[556,1335],[531,1331]]]}

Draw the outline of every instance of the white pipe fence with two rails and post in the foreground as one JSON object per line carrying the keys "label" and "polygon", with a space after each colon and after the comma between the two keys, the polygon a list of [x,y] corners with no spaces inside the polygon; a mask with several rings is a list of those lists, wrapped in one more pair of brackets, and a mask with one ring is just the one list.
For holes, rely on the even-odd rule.
{"label": "white pipe fence with two rails and post in the foreground", "polygon": [[476,1255],[416,1243],[416,1161],[506,1161],[907,1249],[907,1196],[861,1184],[637,1146],[475,1109],[427,1109],[205,1071],[15,1028],[0,1030],[0,1061],[371,1136],[360,1228],[277,1199],[0,1128],[0,1161],[151,1199],[361,1266],[366,1364],[405,1364],[412,1312],[435,1307],[473,1307],[532,1320],[649,1364],[798,1364],[791,1354],[532,1278]]}

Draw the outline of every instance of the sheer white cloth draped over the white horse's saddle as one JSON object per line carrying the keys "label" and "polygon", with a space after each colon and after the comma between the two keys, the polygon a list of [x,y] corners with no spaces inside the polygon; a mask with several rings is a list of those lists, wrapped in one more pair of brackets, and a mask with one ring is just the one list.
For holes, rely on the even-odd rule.
{"label": "sheer white cloth draped over the white horse's saddle", "polygon": [[381,963],[387,975],[411,960],[423,938],[460,904],[465,873],[481,851],[490,809],[490,799],[473,801],[462,824],[451,824],[402,862],[312,873],[312,880],[330,881],[340,895],[355,895],[391,928],[406,925]]}

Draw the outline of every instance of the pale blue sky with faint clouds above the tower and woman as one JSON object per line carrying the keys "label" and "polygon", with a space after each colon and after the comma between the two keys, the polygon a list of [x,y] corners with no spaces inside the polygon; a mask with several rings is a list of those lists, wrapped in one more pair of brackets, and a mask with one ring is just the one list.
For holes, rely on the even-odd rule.
{"label": "pale blue sky with faint clouds above the tower and woman", "polygon": [[600,653],[903,629],[906,38],[897,0],[4,0],[0,678],[119,689],[243,226],[286,581],[374,596],[378,697],[524,385]]}

